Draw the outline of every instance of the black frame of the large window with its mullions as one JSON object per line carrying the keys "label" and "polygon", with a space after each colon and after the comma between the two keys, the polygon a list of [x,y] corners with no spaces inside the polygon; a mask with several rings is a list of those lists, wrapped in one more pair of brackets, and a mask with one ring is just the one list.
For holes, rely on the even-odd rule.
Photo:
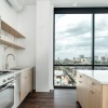
{"label": "black frame of the large window with its mullions", "polygon": [[[108,8],[54,8],[54,22],[53,22],[53,85],[54,85],[54,67],[55,66],[91,66],[94,70],[95,66],[108,66],[108,65],[95,65],[95,14],[108,14]],[[92,65],[55,65],[55,14],[92,14]],[[55,86],[55,85],[54,85]],[[55,86],[56,87],[56,86]],[[59,86],[62,87],[62,86]]]}

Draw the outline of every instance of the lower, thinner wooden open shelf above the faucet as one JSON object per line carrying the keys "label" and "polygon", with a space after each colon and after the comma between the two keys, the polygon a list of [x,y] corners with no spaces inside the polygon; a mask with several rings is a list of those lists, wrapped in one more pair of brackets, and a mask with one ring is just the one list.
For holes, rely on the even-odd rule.
{"label": "lower, thinner wooden open shelf above the faucet", "polygon": [[2,38],[0,38],[0,43],[5,44],[5,45],[9,45],[9,46],[12,46],[12,48],[15,48],[15,49],[25,50],[25,48],[23,48],[23,46],[21,46],[21,45],[17,45],[17,44],[15,44],[15,43],[12,43],[12,42],[10,42],[10,41],[8,41],[8,40],[4,40],[4,39],[2,39]]}

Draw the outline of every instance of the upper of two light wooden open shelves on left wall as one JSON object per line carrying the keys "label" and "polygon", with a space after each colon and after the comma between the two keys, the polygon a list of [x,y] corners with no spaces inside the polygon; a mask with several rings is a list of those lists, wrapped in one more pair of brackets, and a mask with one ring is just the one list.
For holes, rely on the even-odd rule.
{"label": "upper of two light wooden open shelves on left wall", "polygon": [[3,21],[1,21],[1,29],[3,29],[4,31],[11,33],[12,36],[16,37],[16,38],[25,38],[22,33],[19,33],[17,30],[15,30],[14,28],[12,28],[11,26],[9,26],[6,23],[4,23]]}

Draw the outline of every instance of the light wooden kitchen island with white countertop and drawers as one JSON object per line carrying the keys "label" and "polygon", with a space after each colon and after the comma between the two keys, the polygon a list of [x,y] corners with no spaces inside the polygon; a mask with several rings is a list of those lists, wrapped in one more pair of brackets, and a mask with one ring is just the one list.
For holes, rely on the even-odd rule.
{"label": "light wooden kitchen island with white countertop and drawers", "polygon": [[77,100],[82,108],[108,108],[108,70],[78,70]]}

